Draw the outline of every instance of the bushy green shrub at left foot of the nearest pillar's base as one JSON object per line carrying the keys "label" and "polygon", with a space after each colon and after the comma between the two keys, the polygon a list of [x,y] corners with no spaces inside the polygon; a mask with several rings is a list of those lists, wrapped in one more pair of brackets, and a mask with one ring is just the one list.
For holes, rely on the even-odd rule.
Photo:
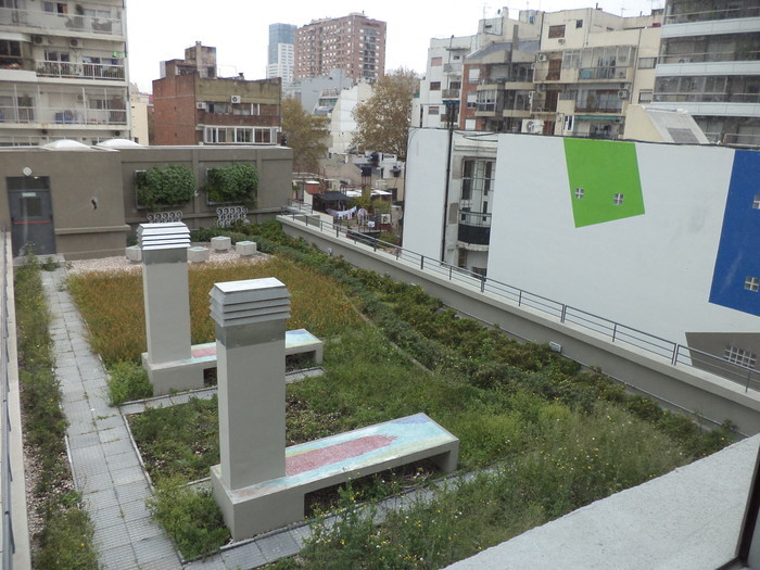
{"label": "bushy green shrub at left foot of the nearest pillar's base", "polygon": [[148,507],[186,560],[218,550],[229,540],[211,489],[190,487],[179,478],[166,479],[159,483]]}

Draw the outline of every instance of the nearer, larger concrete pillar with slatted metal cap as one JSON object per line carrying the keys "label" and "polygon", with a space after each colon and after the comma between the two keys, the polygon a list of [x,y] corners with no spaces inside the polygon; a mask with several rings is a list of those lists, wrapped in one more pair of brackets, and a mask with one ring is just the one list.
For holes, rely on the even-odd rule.
{"label": "nearer, larger concrete pillar with slatted metal cap", "polygon": [[221,484],[235,491],[286,474],[284,333],[290,294],[279,280],[216,283]]}

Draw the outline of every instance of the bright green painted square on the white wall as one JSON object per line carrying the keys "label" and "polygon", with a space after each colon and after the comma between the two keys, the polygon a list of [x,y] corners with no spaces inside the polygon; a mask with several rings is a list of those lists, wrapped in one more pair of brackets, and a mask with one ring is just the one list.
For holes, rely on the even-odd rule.
{"label": "bright green painted square on the white wall", "polygon": [[[633,142],[565,139],[565,160],[577,228],[644,214]],[[617,194],[622,194],[620,204]]]}

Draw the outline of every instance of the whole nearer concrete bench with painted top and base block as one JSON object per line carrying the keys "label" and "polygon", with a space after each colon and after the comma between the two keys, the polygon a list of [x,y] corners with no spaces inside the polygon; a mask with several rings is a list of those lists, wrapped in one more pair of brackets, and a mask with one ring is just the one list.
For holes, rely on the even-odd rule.
{"label": "whole nearer concrete bench with painted top and base block", "polygon": [[457,438],[425,414],[415,414],[288,447],[287,474],[278,479],[226,491],[217,465],[211,480],[214,495],[226,497],[221,511],[238,541],[302,520],[305,496],[313,491],[421,459],[452,472],[458,455]]}

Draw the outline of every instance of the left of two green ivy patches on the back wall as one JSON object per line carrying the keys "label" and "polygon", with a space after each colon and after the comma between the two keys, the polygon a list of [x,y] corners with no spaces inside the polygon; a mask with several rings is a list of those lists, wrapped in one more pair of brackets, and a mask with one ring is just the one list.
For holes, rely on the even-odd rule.
{"label": "left of two green ivy patches on the back wall", "polygon": [[195,175],[181,164],[154,166],[136,178],[137,201],[149,210],[185,204],[195,194]]}

